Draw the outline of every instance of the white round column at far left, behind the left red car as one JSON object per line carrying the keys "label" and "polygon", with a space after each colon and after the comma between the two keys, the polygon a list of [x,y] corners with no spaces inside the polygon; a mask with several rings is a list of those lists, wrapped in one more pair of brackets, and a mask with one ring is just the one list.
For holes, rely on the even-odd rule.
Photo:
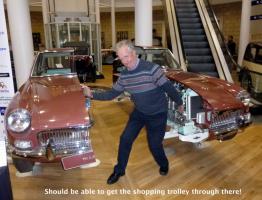
{"label": "white round column at far left, behind the left red car", "polygon": [[8,0],[8,22],[18,88],[28,79],[34,59],[28,0]]}

